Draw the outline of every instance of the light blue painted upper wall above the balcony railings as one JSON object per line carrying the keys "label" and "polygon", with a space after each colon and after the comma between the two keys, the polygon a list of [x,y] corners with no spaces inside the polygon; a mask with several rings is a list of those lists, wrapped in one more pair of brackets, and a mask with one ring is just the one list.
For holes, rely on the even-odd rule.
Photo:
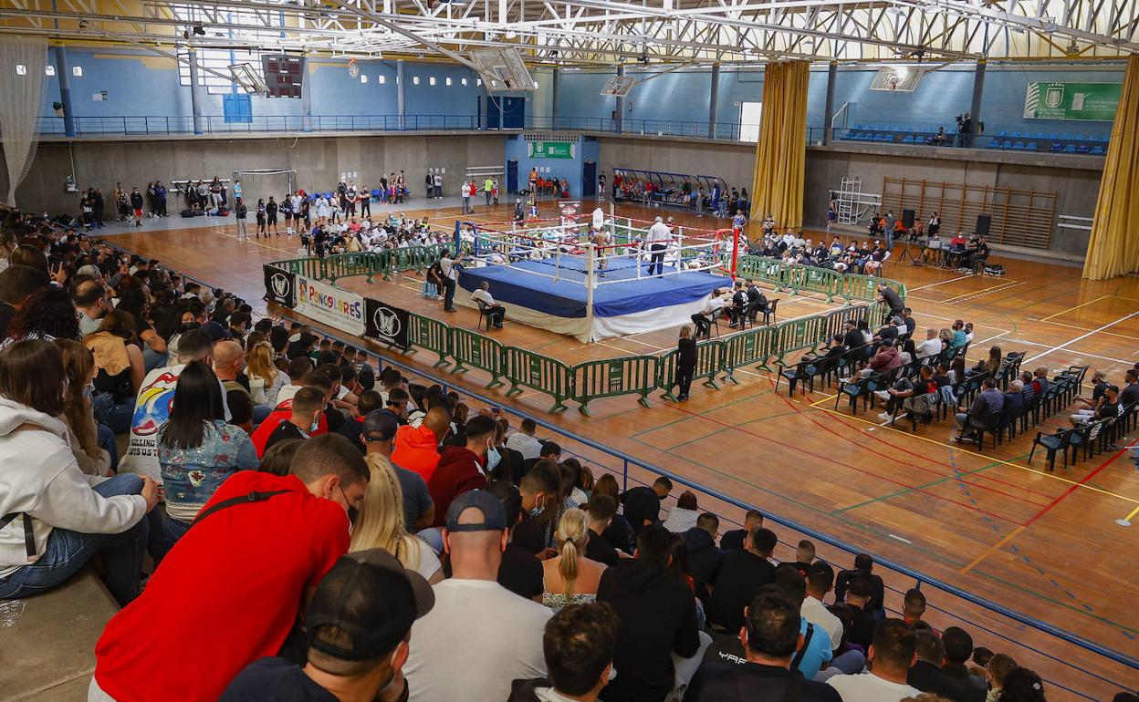
{"label": "light blue painted upper wall above the balcony railings", "polygon": [[[79,117],[116,116],[186,116],[190,114],[190,90],[178,81],[178,68],[172,60],[132,49],[98,51],[74,49],[67,51],[72,67],[83,69],[82,76],[72,76],[72,102]],[[49,65],[54,58],[49,53]],[[322,115],[394,115],[396,113],[395,61],[360,61],[361,74],[368,83],[352,79],[343,60],[313,58],[309,61],[309,90],[312,94],[312,114]],[[559,116],[600,117],[607,119],[616,107],[614,98],[599,94],[614,73],[603,71],[560,72],[558,104],[552,105],[551,75],[548,69],[535,69],[539,89],[527,99],[527,115],[541,117],[556,108]],[[652,80],[637,85],[626,99],[624,117],[631,125],[639,121],[673,123],[706,122],[711,75],[708,69],[683,69],[659,74],[658,71],[630,69],[630,75]],[[870,90],[875,68],[844,68],[838,72],[835,86],[835,108],[849,105],[847,125],[890,125],[916,129],[945,126],[954,130],[953,117],[967,112],[973,93],[972,66],[948,66],[928,73],[913,92],[885,92]],[[384,82],[379,82],[379,77]],[[480,98],[485,90],[477,85],[476,75],[465,66],[444,63],[408,61],[408,84],[404,86],[408,115],[460,115],[474,118],[478,114]],[[419,79],[419,84],[413,79]],[[435,85],[431,85],[431,79]],[[451,85],[446,85],[451,79]],[[462,80],[467,85],[462,85]],[[1001,131],[1072,133],[1107,135],[1111,124],[1105,122],[1043,121],[1023,117],[1024,92],[1030,81],[1118,83],[1123,68],[1118,65],[1101,67],[1056,66],[990,66],[986,72],[982,116],[985,132]],[[93,93],[107,91],[107,100],[92,100]],[[823,115],[827,93],[825,67],[811,72],[808,89],[808,126],[827,123]],[[222,96],[206,96],[204,115],[222,114]],[[59,99],[58,77],[44,79],[41,94],[41,114],[55,116],[51,104]],[[740,102],[762,101],[762,68],[730,69],[720,74],[718,121],[738,124]],[[300,115],[301,100],[254,97],[253,116]],[[631,109],[629,107],[631,106]],[[484,107],[485,109],[485,107]],[[650,127],[652,129],[652,127]]]}

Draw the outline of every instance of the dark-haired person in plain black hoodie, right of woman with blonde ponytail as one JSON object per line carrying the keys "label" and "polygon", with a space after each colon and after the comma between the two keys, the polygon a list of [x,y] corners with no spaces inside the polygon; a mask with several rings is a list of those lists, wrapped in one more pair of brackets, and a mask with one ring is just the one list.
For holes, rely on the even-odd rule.
{"label": "dark-haired person in plain black hoodie, right of woman with blonde ponytail", "polygon": [[661,525],[641,529],[637,554],[607,569],[597,601],[621,618],[613,666],[617,677],[601,691],[606,702],[662,702],[673,688],[672,653],[696,655],[696,600],[688,585],[671,575],[669,532]]}

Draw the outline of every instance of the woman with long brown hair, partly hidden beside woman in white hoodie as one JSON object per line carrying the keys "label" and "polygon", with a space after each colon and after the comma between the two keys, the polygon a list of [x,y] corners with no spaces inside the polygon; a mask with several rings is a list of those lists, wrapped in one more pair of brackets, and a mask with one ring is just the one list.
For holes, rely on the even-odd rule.
{"label": "woman with long brown hair, partly hidden beside woman in white hoodie", "polygon": [[110,454],[99,447],[99,431],[91,411],[89,389],[95,378],[95,355],[74,339],[56,339],[56,347],[64,357],[64,413],[59,418],[67,426],[68,443],[79,469],[88,476],[110,476],[114,466]]}

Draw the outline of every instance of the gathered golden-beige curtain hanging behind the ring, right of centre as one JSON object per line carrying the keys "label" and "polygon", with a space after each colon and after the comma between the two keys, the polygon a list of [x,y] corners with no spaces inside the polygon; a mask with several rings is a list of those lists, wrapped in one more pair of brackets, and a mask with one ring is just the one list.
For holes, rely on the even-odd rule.
{"label": "gathered golden-beige curtain hanging behind the ring, right of centre", "polygon": [[763,73],[763,117],[755,144],[752,218],[775,217],[780,226],[803,225],[806,164],[808,61],[768,64]]}

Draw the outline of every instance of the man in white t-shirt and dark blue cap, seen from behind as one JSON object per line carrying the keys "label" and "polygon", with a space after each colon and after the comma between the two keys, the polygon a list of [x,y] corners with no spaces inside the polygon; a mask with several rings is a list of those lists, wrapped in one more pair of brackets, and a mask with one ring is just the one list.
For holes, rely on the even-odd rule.
{"label": "man in white t-shirt and dark blue cap, seen from behind", "polygon": [[546,677],[542,630],[551,612],[497,583],[507,538],[506,510],[489,492],[451,502],[443,547],[452,576],[411,627],[404,675],[412,702],[506,700],[511,680]]}

